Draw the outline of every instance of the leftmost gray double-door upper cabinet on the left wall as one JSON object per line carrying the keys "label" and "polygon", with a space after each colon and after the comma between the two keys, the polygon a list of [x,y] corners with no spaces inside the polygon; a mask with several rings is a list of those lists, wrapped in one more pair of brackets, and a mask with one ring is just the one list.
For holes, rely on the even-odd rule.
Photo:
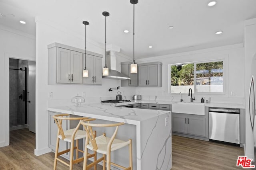
{"label": "leftmost gray double-door upper cabinet on the left wall", "polygon": [[57,48],[57,83],[82,83],[82,53]]}

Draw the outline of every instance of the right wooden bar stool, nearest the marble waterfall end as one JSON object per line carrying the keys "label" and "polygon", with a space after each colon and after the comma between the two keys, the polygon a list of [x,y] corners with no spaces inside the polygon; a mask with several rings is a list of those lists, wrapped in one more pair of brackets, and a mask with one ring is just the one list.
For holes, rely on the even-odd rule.
{"label": "right wooden bar stool, nearest the marble waterfall end", "polygon": [[[118,127],[120,125],[123,125],[124,123],[114,123],[114,124],[94,124],[90,123],[89,121],[96,120],[96,119],[83,119],[80,120],[80,123],[84,126],[84,129],[86,131],[86,139],[85,139],[85,149],[84,149],[84,165],[83,170],[89,170],[90,167],[98,164],[98,162],[103,160],[103,170],[106,168],[107,163],[107,170],[110,170],[110,164],[117,166],[119,168],[123,168],[124,170],[132,170],[132,139],[129,139],[128,141],[121,141],[119,139],[115,139],[116,133],[118,131]],[[103,135],[99,137],[95,137],[92,131],[92,127],[116,127],[116,130],[114,131],[112,137],[106,137],[106,134],[103,133]],[[121,165],[118,165],[116,163],[113,163],[110,161],[110,153],[111,151],[121,149],[122,147],[125,147],[129,145],[129,167],[124,167]],[[103,156],[97,160],[94,160],[91,164],[87,165],[87,154],[88,149],[103,154]],[[106,160],[107,155],[107,160]]]}

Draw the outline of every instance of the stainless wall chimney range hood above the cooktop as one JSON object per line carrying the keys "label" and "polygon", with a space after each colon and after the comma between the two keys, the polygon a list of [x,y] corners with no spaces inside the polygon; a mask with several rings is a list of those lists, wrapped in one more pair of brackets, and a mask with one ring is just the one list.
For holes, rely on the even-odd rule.
{"label": "stainless wall chimney range hood above the cooktop", "polygon": [[108,76],[102,76],[102,78],[115,79],[115,80],[130,80],[131,78],[126,74],[116,71],[116,52],[107,51],[107,66],[110,68]]}

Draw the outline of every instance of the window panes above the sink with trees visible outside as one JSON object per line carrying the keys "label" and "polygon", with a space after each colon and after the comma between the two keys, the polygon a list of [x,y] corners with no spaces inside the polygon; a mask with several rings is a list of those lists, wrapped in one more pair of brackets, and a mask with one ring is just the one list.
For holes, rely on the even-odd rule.
{"label": "window panes above the sink with trees visible outside", "polygon": [[223,93],[223,61],[170,65],[171,93]]}

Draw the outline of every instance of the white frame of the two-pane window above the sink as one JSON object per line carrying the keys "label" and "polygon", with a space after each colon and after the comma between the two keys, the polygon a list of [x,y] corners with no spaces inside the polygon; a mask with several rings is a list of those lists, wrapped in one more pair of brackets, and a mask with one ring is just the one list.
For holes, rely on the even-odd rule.
{"label": "white frame of the two-pane window above the sink", "polygon": [[194,88],[193,88],[193,93],[194,94],[217,94],[217,95],[224,95],[226,94],[226,60],[225,59],[214,59],[214,60],[205,60],[205,61],[192,61],[192,62],[185,62],[185,63],[174,63],[174,64],[168,64],[168,74],[169,74],[169,81],[168,81],[168,86],[169,86],[169,94],[179,94],[179,92],[174,92],[172,93],[172,84],[171,84],[171,66],[173,65],[180,65],[180,64],[194,64],[194,81],[196,80],[196,64],[200,63],[213,63],[213,62],[223,62],[223,92],[196,92],[196,83],[194,83]]}

